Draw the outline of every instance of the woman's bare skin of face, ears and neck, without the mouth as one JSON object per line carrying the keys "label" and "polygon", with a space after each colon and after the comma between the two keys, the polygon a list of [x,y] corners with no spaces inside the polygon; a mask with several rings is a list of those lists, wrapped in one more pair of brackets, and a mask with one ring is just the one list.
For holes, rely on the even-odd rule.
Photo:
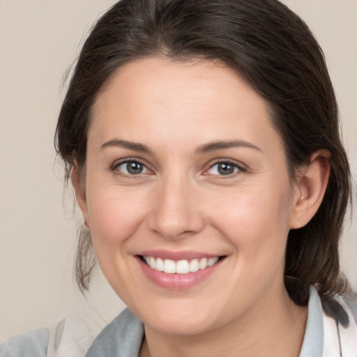
{"label": "woman's bare skin of face, ears and neck, without the mouth", "polygon": [[[244,144],[199,151],[230,141]],[[284,288],[284,252],[289,229],[321,203],[327,156],[315,153],[291,180],[267,103],[219,63],[152,58],[118,70],[93,107],[85,179],[77,168],[72,179],[103,273],[144,322],[140,356],[298,356],[307,307]],[[128,158],[142,174],[126,172]],[[235,172],[220,175],[218,160]],[[174,291],[135,257],[157,249],[225,259]]]}

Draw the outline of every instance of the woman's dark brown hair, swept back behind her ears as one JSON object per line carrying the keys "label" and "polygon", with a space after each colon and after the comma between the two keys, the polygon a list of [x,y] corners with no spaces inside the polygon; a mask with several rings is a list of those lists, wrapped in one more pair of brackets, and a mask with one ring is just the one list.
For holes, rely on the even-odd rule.
{"label": "woman's dark brown hair, swept back behind her ears", "polygon": [[[66,179],[86,162],[91,108],[103,84],[124,63],[146,56],[225,63],[270,105],[291,179],[314,151],[331,152],[331,176],[319,211],[287,241],[285,286],[304,305],[310,284],[342,293],[338,245],[351,196],[347,155],[324,54],[300,17],[277,0],[121,0],[93,27],[77,60],[56,128]],[[76,276],[89,287],[91,236],[79,234]]]}

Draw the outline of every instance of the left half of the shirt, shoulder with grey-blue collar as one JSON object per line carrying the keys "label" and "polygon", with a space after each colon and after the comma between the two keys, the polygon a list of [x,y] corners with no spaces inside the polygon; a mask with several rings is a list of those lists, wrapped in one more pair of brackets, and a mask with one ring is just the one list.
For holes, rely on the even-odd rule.
{"label": "left half of the shirt, shoulder with grey-blue collar", "polygon": [[10,338],[0,357],[137,356],[144,325],[126,308],[110,324],[73,314],[50,328]]}

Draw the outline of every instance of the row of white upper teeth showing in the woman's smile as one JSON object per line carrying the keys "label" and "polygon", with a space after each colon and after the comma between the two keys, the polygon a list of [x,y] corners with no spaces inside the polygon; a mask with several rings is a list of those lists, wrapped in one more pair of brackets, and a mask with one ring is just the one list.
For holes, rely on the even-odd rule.
{"label": "row of white upper teeth showing in the woman's smile", "polygon": [[168,274],[195,273],[195,271],[205,269],[208,266],[213,266],[213,264],[217,263],[218,259],[219,257],[192,259],[191,261],[186,259],[174,261],[172,259],[163,260],[155,257],[144,257],[146,264],[148,264],[150,268],[155,269],[156,271],[164,271]]}

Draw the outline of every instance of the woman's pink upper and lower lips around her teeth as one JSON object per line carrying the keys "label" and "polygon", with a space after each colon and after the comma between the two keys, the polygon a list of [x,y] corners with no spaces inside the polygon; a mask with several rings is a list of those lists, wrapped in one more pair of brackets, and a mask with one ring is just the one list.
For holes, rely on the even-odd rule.
{"label": "woman's pink upper and lower lips around her teeth", "polygon": [[224,259],[220,259],[213,266],[208,266],[199,271],[195,271],[195,273],[186,273],[186,274],[169,274],[164,273],[162,271],[156,271],[153,268],[150,268],[144,261],[142,261],[141,256],[149,256],[149,257],[158,257],[162,259],[172,259],[172,260],[181,260],[181,259],[197,259],[197,258],[213,258],[218,257],[218,255],[209,255],[209,254],[201,254],[197,252],[167,252],[167,251],[147,251],[142,252],[140,255],[136,255],[135,258],[142,269],[146,278],[151,280],[154,284],[159,287],[163,287],[169,290],[188,290],[192,287],[197,286],[198,284],[204,282],[207,278],[209,278],[222,264]]}

